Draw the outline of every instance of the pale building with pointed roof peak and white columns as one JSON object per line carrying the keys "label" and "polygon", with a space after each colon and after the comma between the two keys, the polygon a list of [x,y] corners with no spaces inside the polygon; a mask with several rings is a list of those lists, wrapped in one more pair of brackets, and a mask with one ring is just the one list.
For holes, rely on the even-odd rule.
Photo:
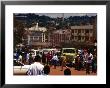
{"label": "pale building with pointed roof peak and white columns", "polygon": [[31,27],[25,28],[26,36],[24,40],[26,44],[33,46],[34,48],[42,48],[48,46],[47,38],[46,38],[46,31],[45,27],[39,27],[38,23]]}

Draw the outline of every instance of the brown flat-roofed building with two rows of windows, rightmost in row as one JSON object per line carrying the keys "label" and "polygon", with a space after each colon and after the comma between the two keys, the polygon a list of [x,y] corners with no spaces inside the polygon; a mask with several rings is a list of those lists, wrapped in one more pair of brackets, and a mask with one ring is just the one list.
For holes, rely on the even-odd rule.
{"label": "brown flat-roofed building with two rows of windows, rightmost in row", "polygon": [[71,40],[73,42],[94,42],[94,25],[71,26]]}

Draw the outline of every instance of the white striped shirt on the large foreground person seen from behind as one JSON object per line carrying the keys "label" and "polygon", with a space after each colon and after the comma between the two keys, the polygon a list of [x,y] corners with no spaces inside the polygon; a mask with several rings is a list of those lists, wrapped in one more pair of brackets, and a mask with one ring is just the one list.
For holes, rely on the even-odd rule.
{"label": "white striped shirt on the large foreground person seen from behind", "polygon": [[44,66],[39,62],[34,62],[29,67],[27,74],[28,75],[43,75],[44,74]]}

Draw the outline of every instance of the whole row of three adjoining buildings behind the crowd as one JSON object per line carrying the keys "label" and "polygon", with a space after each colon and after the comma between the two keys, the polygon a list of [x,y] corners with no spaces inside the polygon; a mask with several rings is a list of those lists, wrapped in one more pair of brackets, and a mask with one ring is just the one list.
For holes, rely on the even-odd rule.
{"label": "whole row of three adjoining buildings behind the crowd", "polygon": [[25,28],[28,45],[39,48],[75,47],[75,45],[94,45],[96,25],[71,26],[70,29],[52,29],[38,27],[38,24]]}

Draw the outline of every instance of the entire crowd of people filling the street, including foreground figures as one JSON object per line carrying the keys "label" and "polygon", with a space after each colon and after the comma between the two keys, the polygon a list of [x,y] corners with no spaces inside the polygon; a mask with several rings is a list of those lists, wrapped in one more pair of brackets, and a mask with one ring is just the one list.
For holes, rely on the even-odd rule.
{"label": "entire crowd of people filling the street, including foreground figures", "polygon": [[59,55],[51,51],[47,54],[38,52],[35,57],[31,53],[16,52],[14,58],[18,63],[30,65],[27,75],[49,75],[50,68],[56,69],[57,66],[61,67],[64,75],[71,75],[70,68],[78,71],[86,70],[86,74],[90,74],[97,72],[97,55],[94,52],[96,49],[93,52],[88,49],[78,49],[74,62],[68,62],[65,54]]}

